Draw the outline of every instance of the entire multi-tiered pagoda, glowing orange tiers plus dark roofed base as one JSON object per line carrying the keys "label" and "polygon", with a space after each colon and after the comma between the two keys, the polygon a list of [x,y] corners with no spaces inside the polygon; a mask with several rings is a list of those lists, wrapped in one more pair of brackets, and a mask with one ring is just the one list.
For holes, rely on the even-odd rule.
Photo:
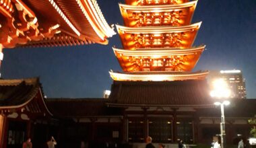
{"label": "entire multi-tiered pagoda, glowing orange tiers plus dark roofed base", "polygon": [[[195,71],[205,45],[193,46],[201,22],[195,1],[126,0],[117,25],[123,48],[113,47],[123,72],[110,71],[109,107],[123,108],[124,140],[197,143],[198,110],[212,108],[205,77]],[[139,147],[139,145],[138,145]]]}

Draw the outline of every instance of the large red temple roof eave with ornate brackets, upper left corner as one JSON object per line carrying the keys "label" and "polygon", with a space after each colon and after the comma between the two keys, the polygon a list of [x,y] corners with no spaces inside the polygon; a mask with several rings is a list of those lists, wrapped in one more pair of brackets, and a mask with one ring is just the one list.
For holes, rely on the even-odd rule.
{"label": "large red temple roof eave with ornate brackets, upper left corner", "polygon": [[43,38],[53,38],[59,32],[79,42],[108,44],[106,38],[115,34],[96,0],[7,0],[0,8],[0,31],[4,32],[0,34],[0,44],[4,48],[28,42],[39,44]]}

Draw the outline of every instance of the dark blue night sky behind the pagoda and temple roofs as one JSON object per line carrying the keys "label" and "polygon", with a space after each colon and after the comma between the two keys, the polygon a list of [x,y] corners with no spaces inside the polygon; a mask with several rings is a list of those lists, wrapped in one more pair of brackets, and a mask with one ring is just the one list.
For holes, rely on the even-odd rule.
{"label": "dark blue night sky behind the pagoda and temple roofs", "polygon": [[[121,1],[123,3],[123,1]],[[108,24],[123,24],[118,0],[98,0]],[[206,44],[194,71],[240,69],[247,98],[256,98],[256,1],[199,0],[193,23],[202,21],[194,45]],[[3,78],[40,77],[48,98],[101,98],[110,89],[110,69],[121,71],[112,46],[92,44],[54,48],[4,49]]]}

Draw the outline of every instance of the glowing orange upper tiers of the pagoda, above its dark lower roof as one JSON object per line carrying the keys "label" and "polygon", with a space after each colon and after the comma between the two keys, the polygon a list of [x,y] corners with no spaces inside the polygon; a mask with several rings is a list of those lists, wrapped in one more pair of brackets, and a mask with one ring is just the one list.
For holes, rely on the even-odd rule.
{"label": "glowing orange upper tiers of the pagoda, above its dark lower roof", "polygon": [[193,46],[201,26],[201,22],[191,24],[197,0],[126,3],[119,4],[125,26],[117,25],[123,49],[113,48],[124,73],[111,71],[115,81],[205,78],[207,71],[191,73],[205,49],[204,45]]}

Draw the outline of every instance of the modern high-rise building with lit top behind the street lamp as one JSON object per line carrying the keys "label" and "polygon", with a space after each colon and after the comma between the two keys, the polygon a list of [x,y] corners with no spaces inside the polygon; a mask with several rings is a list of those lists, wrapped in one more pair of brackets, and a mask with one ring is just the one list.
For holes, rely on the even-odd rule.
{"label": "modern high-rise building with lit top behind the street lamp", "polygon": [[240,70],[222,70],[222,71],[211,71],[210,73],[210,83],[214,79],[223,79],[230,91],[231,98],[245,99],[246,89],[245,89],[245,79],[243,78],[243,73]]}

